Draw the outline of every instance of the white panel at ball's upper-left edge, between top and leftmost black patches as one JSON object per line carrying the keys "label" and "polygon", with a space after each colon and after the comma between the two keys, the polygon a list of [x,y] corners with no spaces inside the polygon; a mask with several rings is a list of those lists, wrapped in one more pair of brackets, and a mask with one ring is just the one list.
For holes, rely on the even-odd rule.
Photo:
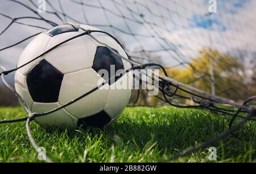
{"label": "white panel at ball's upper-left edge, between top and leftmost black patches", "polygon": [[[35,57],[38,57],[39,55],[44,53],[46,51],[49,40],[51,40],[51,36],[48,36],[46,34],[39,34],[38,36],[36,36],[36,38],[27,45],[27,47],[20,55],[17,67],[28,63],[29,61],[35,59]],[[39,59],[36,59],[31,63],[27,64],[26,66],[18,69],[18,72],[26,76],[30,69],[38,64],[39,61],[41,61],[42,59],[43,56],[39,57]]]}

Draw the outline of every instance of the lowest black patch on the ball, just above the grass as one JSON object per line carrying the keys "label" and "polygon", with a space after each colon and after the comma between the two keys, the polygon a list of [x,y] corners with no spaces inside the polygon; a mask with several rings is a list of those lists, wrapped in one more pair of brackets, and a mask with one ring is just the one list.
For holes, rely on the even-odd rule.
{"label": "lowest black patch on the ball, just above the grass", "polygon": [[77,126],[82,126],[84,129],[88,127],[98,127],[102,129],[104,126],[108,125],[111,121],[109,115],[104,111],[100,111],[100,113],[90,115],[89,117],[79,118],[77,121]]}

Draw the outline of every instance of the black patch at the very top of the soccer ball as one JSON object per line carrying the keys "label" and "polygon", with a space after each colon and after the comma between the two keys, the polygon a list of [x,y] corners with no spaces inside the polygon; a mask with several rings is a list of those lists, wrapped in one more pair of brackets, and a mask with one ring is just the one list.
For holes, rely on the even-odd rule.
{"label": "black patch at the very top of the soccer ball", "polygon": [[53,37],[53,36],[56,36],[59,34],[63,34],[65,32],[77,32],[77,31],[79,31],[78,27],[73,26],[71,24],[65,24],[62,26],[57,26],[57,27],[51,28],[51,29],[45,31],[44,34],[47,34],[47,35]]}

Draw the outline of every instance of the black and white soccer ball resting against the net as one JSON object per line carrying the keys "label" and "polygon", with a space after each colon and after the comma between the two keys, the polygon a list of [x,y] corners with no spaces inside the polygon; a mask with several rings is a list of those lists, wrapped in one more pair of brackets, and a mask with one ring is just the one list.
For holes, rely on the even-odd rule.
{"label": "black and white soccer ball resting against the net", "polygon": [[[87,25],[79,26],[86,30],[99,30]],[[81,28],[71,24],[42,32],[24,49],[17,66],[26,64],[48,49],[82,32],[84,31]],[[99,32],[93,33],[93,36],[127,58],[121,45],[110,36]],[[105,69],[110,74],[111,65],[115,65],[114,71],[131,68],[130,63],[115,55],[105,45],[99,44],[88,35],[83,35],[18,69],[15,73],[15,89],[32,112],[44,113],[89,92],[98,82],[106,81],[98,71]],[[129,85],[130,80],[128,74],[120,76],[112,84],[106,83],[110,88],[98,89],[55,113],[35,118],[35,121],[44,127],[71,129],[77,126],[109,125],[122,113],[131,94],[129,87],[111,87],[119,81],[126,81]]]}

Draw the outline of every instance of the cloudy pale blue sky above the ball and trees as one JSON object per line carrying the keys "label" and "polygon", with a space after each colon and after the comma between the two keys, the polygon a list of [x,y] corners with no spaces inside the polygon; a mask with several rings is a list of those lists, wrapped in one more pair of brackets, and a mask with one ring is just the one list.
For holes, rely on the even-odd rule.
{"label": "cloudy pale blue sky above the ball and trees", "polygon": [[[38,11],[40,5],[28,0],[16,0]],[[209,13],[208,0],[51,0],[46,10],[56,15],[39,13],[57,24],[75,22],[90,24],[116,36],[131,55],[161,57],[164,67],[185,63],[193,59],[203,47],[215,48],[236,56],[250,68],[256,62],[256,1],[216,0],[216,13]],[[81,2],[83,3],[81,5]],[[20,3],[3,0],[0,13],[19,18],[38,16]],[[61,13],[67,14],[66,16]],[[0,49],[8,47],[52,26],[37,19],[19,19],[18,22],[40,26],[35,28],[11,24],[0,15]],[[15,68],[20,53],[31,41],[0,51],[0,65]],[[137,53],[141,50],[146,54]],[[159,59],[159,58],[158,58]]]}

